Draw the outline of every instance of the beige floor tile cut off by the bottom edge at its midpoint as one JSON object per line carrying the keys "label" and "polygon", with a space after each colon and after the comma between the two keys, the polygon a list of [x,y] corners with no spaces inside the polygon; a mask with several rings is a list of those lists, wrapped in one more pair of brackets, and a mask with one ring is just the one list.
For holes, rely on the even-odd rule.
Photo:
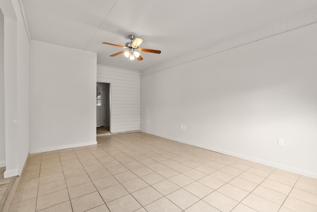
{"label": "beige floor tile cut off by the bottom edge at its midpoint", "polygon": [[181,212],[175,204],[170,202],[167,198],[163,197],[159,200],[145,206],[148,212]]}

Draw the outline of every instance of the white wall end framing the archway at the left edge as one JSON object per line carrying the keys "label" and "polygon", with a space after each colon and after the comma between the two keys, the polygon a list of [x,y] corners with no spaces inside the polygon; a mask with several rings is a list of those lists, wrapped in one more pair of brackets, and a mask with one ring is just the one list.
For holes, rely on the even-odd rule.
{"label": "white wall end framing the archway at the left edge", "polygon": [[0,1],[4,15],[4,177],[16,176],[18,170],[18,115],[17,115],[17,22],[12,1]]}

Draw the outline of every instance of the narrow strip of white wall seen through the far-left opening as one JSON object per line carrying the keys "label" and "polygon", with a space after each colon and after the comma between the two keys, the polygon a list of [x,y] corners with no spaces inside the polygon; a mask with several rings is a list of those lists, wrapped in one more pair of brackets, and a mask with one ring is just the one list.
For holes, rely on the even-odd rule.
{"label": "narrow strip of white wall seen through the far-left opening", "polygon": [[4,130],[4,16],[0,8],[0,167],[5,166]]}

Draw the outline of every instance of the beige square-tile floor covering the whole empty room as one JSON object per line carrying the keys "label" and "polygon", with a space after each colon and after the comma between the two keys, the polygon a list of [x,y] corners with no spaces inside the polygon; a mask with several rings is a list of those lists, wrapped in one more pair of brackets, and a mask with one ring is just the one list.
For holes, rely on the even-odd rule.
{"label": "beige square-tile floor covering the whole empty room", "polygon": [[317,179],[134,132],[32,154],[10,212],[317,212]]}

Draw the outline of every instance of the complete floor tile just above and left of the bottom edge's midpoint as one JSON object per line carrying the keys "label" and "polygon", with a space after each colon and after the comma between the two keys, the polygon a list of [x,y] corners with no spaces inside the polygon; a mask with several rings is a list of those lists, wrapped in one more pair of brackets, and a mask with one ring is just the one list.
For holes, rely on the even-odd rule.
{"label": "complete floor tile just above and left of the bottom edge's midpoint", "polygon": [[146,206],[159,198],[163,197],[157,190],[151,186],[133,192],[132,196],[142,205]]}

